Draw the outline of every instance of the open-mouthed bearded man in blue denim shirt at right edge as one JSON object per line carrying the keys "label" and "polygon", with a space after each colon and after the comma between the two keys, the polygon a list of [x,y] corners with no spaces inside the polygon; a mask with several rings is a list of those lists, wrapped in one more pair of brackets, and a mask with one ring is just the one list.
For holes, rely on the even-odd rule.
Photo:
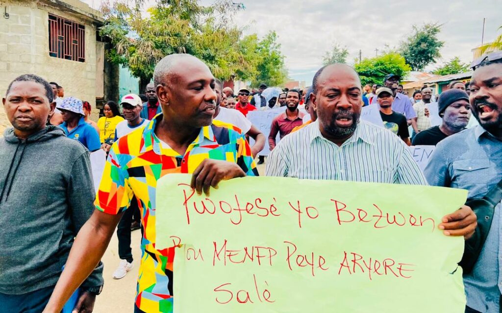
{"label": "open-mouthed bearded man in blue denim shirt at right edge", "polygon": [[[480,225],[484,226],[476,229],[481,237],[479,254],[472,271],[464,271],[465,312],[474,313],[499,312],[502,298],[502,54],[498,58],[496,54],[473,64],[469,101],[479,125],[442,140],[425,168],[432,186],[467,189],[469,199],[489,199],[486,210],[479,207],[483,209]],[[462,90],[448,90],[439,102],[453,94],[467,96]]]}

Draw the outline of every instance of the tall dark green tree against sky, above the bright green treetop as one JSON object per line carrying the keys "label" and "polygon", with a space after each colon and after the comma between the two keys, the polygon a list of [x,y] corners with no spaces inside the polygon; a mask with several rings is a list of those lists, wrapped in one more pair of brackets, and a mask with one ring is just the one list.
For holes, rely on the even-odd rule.
{"label": "tall dark green tree against sky, above the bright green treetop", "polygon": [[438,39],[441,26],[437,23],[425,24],[421,28],[414,25],[413,34],[401,44],[401,55],[414,71],[423,71],[427,65],[435,63],[441,57],[439,50],[444,45]]}

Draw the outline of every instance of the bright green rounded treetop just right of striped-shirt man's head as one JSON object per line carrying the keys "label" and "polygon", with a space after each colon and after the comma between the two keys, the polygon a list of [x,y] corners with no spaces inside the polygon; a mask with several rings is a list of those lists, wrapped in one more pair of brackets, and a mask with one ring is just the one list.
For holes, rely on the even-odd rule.
{"label": "bright green rounded treetop just right of striped-shirt man's head", "polygon": [[387,74],[404,77],[411,71],[405,59],[397,53],[364,59],[362,62],[356,63],[354,69],[359,74],[363,86],[365,84],[383,84]]}

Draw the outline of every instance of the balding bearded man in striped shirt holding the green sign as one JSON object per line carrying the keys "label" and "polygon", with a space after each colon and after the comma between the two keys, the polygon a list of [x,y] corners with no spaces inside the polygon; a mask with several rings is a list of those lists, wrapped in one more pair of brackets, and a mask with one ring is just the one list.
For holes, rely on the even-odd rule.
{"label": "balding bearded man in striped shirt holding the green sign", "polygon": [[[408,147],[392,132],[359,120],[361,82],[344,64],[321,68],[312,84],[316,122],[285,137],[272,151],[267,176],[426,185]],[[468,206],[446,215],[445,235],[472,236]]]}

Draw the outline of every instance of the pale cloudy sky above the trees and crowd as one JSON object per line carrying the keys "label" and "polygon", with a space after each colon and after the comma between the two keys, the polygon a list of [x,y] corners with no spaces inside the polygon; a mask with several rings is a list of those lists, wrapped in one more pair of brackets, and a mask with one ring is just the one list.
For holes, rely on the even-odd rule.
{"label": "pale cloudy sky above the trees and crowd", "polygon": [[[100,0],[84,2],[98,7]],[[202,0],[204,4],[212,2]],[[439,22],[444,24],[439,37],[445,42],[439,64],[455,56],[470,63],[471,49],[481,44],[483,18],[486,18],[485,43],[495,39],[501,32],[498,27],[502,26],[502,0],[401,0],[392,4],[382,0],[240,2],[246,9],[235,16],[234,22],[239,26],[249,25],[244,33],[257,33],[260,37],[275,30],[290,77],[306,81],[307,85],[334,43],[347,47],[350,52],[347,61],[351,63],[358,57],[359,49],[362,58],[374,57],[375,49],[398,46],[414,24]]]}

